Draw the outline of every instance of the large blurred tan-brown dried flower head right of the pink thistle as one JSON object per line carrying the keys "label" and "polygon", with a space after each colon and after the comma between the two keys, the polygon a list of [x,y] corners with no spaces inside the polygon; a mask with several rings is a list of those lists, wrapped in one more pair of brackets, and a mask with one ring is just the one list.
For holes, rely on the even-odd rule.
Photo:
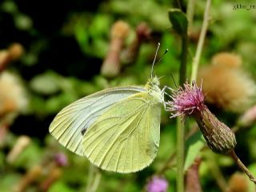
{"label": "large blurred tan-brown dried flower head right of the pink thistle", "polygon": [[256,86],[241,63],[238,55],[221,53],[214,56],[210,66],[199,70],[198,82],[204,82],[207,103],[232,112],[242,112],[250,106]]}

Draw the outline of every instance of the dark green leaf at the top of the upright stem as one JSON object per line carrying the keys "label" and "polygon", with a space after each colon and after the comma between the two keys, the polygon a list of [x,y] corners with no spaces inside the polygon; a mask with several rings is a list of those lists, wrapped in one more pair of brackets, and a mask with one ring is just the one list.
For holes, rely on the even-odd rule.
{"label": "dark green leaf at the top of the upright stem", "polygon": [[178,34],[186,35],[188,25],[186,14],[184,14],[182,10],[170,9],[168,15],[174,30],[176,30]]}

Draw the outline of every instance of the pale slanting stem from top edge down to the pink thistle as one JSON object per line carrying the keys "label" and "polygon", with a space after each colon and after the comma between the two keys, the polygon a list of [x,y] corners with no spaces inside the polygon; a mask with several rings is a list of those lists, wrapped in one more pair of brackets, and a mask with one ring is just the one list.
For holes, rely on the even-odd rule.
{"label": "pale slanting stem from top edge down to the pink thistle", "polygon": [[197,50],[192,62],[191,82],[196,80],[198,75],[198,66],[199,66],[199,62],[202,54],[202,47],[206,38],[206,30],[209,22],[210,2],[211,0],[207,0],[206,2],[206,10],[205,10],[205,14],[203,16],[203,21],[202,21],[202,30],[199,36]]}

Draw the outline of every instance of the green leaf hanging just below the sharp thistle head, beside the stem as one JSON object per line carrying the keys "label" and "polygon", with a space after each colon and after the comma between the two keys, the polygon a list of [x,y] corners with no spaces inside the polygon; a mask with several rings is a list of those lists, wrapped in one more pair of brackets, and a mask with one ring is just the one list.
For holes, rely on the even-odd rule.
{"label": "green leaf hanging just below the sharp thistle head, beside the stem", "polygon": [[186,142],[186,161],[184,170],[187,170],[194,163],[194,159],[197,157],[202,147],[205,146],[205,143],[200,131],[188,139]]}

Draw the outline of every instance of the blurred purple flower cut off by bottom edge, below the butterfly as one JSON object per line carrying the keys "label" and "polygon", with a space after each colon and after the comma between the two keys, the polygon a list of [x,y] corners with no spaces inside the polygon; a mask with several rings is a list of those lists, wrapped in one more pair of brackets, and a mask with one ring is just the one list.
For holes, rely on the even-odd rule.
{"label": "blurred purple flower cut off by bottom edge, below the butterfly", "polygon": [[154,176],[150,179],[150,182],[146,184],[147,192],[166,192],[168,188],[168,182],[165,178],[160,176]]}

